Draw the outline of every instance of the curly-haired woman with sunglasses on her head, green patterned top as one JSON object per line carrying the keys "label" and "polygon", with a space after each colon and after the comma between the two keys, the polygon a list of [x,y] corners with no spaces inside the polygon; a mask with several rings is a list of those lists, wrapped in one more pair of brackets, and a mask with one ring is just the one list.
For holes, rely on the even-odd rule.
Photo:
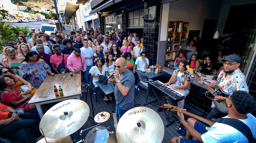
{"label": "curly-haired woman with sunglasses on her head, green patterned top", "polygon": [[6,59],[3,60],[2,64],[5,67],[11,68],[16,74],[19,74],[20,64],[24,58],[17,57],[15,49],[10,46],[7,46],[3,49],[3,54]]}

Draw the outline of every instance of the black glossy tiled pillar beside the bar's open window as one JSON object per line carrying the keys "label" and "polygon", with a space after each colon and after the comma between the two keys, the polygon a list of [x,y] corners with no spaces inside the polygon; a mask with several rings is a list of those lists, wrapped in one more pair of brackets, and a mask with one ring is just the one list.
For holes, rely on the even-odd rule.
{"label": "black glossy tiled pillar beside the bar's open window", "polygon": [[144,18],[151,22],[144,21],[143,38],[149,65],[157,63],[158,37],[159,37],[159,21],[161,3],[156,0],[148,0],[144,2]]}

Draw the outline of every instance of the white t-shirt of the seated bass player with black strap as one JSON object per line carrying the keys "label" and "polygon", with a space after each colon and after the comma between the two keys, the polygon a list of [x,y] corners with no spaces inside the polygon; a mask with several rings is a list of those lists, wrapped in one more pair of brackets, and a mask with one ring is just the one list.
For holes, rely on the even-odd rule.
{"label": "white t-shirt of the seated bass player with black strap", "polygon": [[[247,119],[239,119],[244,122],[251,130],[252,136],[256,139],[256,118],[247,114]],[[224,118],[230,118],[228,116]],[[215,123],[212,127],[203,135],[201,135],[203,142],[207,143],[248,143],[248,139],[244,134],[239,132],[237,129],[223,124]]]}

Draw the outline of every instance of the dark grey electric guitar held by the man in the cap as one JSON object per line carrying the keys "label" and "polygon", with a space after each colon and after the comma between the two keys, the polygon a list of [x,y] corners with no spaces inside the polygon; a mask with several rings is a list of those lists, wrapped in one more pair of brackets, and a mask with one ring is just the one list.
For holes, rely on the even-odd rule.
{"label": "dark grey electric guitar held by the man in the cap", "polygon": [[[193,69],[189,68],[189,65],[186,66],[187,70],[189,71],[189,73],[191,73],[197,80],[200,80],[200,77],[198,77],[194,72]],[[207,98],[209,98],[210,100],[213,101],[213,103],[215,104],[216,108],[222,112],[222,113],[227,113],[228,109],[227,106],[225,104],[226,101],[221,101],[218,102],[216,100],[214,100],[214,97],[217,95],[223,96],[223,97],[227,97],[229,94],[225,93],[221,87],[219,85],[215,85],[215,90],[213,90],[211,87],[207,86],[206,83],[203,82],[203,86],[208,90],[207,92],[205,92],[205,96]]]}

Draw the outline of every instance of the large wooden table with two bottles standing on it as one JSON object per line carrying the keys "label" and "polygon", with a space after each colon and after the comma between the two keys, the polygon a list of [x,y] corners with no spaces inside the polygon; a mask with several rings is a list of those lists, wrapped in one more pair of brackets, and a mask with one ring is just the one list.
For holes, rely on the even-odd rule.
{"label": "large wooden table with two bottles standing on it", "polygon": [[[65,75],[65,77],[63,77]],[[63,90],[63,97],[55,96],[54,85]],[[64,101],[68,99],[80,99],[81,95],[81,74],[60,73],[54,76],[48,75],[43,84],[38,88],[28,104],[35,104],[40,118],[43,117],[42,104]]]}

